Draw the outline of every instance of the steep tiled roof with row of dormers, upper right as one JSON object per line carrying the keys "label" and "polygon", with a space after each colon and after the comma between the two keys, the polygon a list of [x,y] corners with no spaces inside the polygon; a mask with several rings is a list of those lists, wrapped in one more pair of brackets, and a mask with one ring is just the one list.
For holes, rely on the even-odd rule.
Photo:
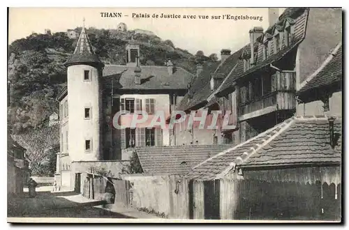
{"label": "steep tiled roof with row of dormers, upper right", "polygon": [[[306,8],[287,8],[283,15],[287,17],[291,17],[292,13],[297,15],[297,18],[295,18],[295,25],[294,25],[294,40],[292,42],[292,45],[290,46],[283,46],[283,48],[277,52],[276,54],[269,55],[267,59],[263,60],[263,45],[261,43],[255,43],[257,45],[257,55],[255,56],[255,64],[252,68],[248,69],[246,72],[244,72],[244,61],[237,59],[237,67],[235,67],[234,70],[230,72],[225,82],[223,82],[221,89],[216,93],[218,96],[222,96],[226,94],[226,91],[229,90],[230,87],[234,86],[234,82],[242,77],[245,77],[246,75],[251,74],[251,72],[255,72],[256,70],[259,70],[260,68],[263,68],[265,66],[269,66],[271,63],[274,63],[275,61],[279,61],[284,56],[290,54],[291,52],[297,51],[297,47],[299,43],[302,43],[302,40],[304,40],[305,32],[306,32],[306,18],[307,18],[307,11],[305,11]],[[279,19],[283,20],[285,16],[281,15]],[[293,16],[292,16],[293,17]],[[267,29],[266,32],[270,33],[270,30],[274,26]],[[273,46],[273,40],[270,40],[269,42],[272,42]],[[241,53],[242,50],[246,49],[249,52],[250,45],[246,45],[243,49],[239,49],[236,53]],[[235,54],[232,54],[235,55]],[[235,63],[230,63],[231,66],[235,65]]]}

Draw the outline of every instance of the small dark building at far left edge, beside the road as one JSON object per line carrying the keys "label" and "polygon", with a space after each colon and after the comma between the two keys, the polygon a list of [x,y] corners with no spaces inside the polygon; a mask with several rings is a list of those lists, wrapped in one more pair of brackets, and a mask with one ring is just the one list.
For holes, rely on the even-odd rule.
{"label": "small dark building at far left edge, beside the road", "polygon": [[30,177],[26,149],[7,137],[7,193],[8,196],[23,196],[23,187]]}

